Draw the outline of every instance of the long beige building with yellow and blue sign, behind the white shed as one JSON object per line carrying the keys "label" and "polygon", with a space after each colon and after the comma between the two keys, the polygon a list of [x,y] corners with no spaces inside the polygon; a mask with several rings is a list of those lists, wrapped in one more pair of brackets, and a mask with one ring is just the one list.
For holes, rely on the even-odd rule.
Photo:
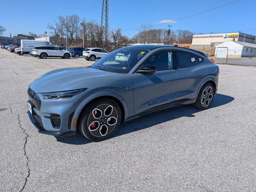
{"label": "long beige building with yellow and blue sign, behind the white shed", "polygon": [[192,48],[209,48],[215,47],[218,44],[232,40],[234,42],[245,42],[250,44],[256,44],[256,36],[245,33],[219,33],[219,34],[202,34],[193,35]]}

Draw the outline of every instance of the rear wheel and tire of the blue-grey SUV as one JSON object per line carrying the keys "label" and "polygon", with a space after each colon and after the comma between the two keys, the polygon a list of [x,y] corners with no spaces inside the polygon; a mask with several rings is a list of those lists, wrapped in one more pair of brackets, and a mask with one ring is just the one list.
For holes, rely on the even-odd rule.
{"label": "rear wheel and tire of the blue-grey SUV", "polygon": [[201,110],[208,109],[213,102],[214,95],[215,89],[213,87],[213,84],[204,84],[197,96],[197,100],[194,103],[194,106]]}

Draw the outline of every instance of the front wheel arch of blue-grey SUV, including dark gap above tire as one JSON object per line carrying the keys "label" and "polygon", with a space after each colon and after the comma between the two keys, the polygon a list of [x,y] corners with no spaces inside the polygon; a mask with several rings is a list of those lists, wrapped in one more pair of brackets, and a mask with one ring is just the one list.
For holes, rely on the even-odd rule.
{"label": "front wheel arch of blue-grey SUV, including dark gap above tire", "polygon": [[80,120],[80,116],[83,112],[83,110],[92,102],[94,102],[95,100],[98,100],[100,98],[110,98],[112,100],[114,100],[115,102],[117,102],[117,104],[120,106],[121,108],[121,112],[122,112],[122,122],[124,119],[127,118],[127,106],[125,103],[125,100],[117,93],[112,92],[112,91],[101,91],[101,92],[97,92],[94,93],[92,95],[90,95],[89,97],[85,98],[80,104],[79,106],[76,108],[76,111],[74,112],[74,116],[72,118],[72,126],[71,126],[71,130],[76,130],[77,128],[77,123],[76,123],[76,127],[74,128],[74,120],[75,118],[77,118],[78,122]]}

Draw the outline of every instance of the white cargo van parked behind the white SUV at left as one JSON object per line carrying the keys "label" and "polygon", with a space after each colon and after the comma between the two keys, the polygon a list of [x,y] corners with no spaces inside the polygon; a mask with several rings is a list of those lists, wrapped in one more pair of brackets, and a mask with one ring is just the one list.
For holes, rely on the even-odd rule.
{"label": "white cargo van parked behind the white SUV at left", "polygon": [[37,40],[20,40],[21,52],[20,55],[29,54],[35,46],[54,46],[48,41],[37,41]]}

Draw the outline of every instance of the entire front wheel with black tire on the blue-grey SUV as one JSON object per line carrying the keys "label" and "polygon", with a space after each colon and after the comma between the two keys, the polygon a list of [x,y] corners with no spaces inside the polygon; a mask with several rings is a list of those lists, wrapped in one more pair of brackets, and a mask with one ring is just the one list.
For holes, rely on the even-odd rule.
{"label": "entire front wheel with black tire on the blue-grey SUV", "polygon": [[109,98],[103,98],[86,107],[81,115],[78,128],[86,138],[92,141],[105,140],[118,130],[121,116],[118,104]]}

